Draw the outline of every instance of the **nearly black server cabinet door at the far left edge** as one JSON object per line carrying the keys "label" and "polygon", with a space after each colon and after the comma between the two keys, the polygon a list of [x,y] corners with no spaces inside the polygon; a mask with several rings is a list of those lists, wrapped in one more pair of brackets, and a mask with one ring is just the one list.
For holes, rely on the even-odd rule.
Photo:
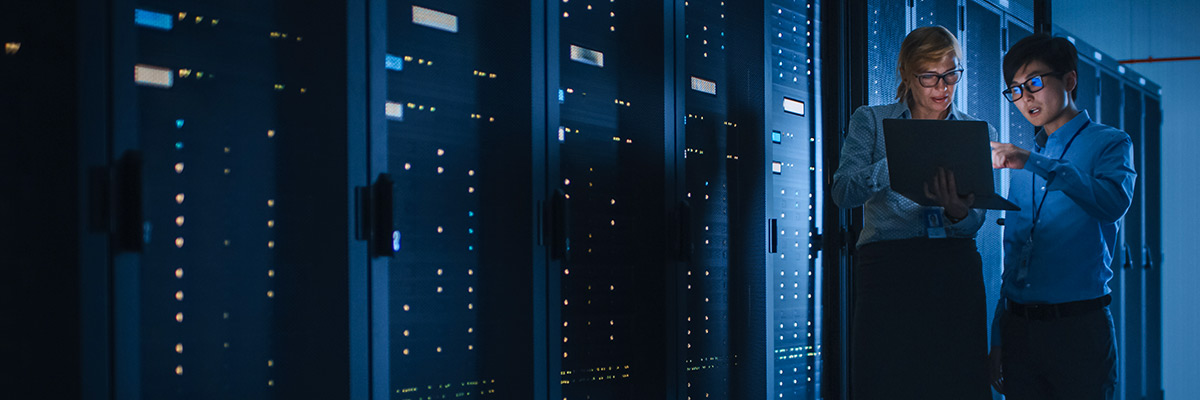
{"label": "nearly black server cabinet door at the far left edge", "polygon": [[[107,283],[106,268],[96,268],[107,258],[106,243],[88,214],[89,172],[103,163],[104,139],[80,137],[82,129],[95,125],[74,118],[95,115],[80,113],[95,111],[80,107],[80,97],[94,94],[88,89],[100,79],[79,78],[95,70],[78,67],[78,54],[94,49],[78,37],[92,30],[77,26],[85,11],[74,2],[22,1],[5,8],[0,252],[6,276],[0,315],[6,340],[0,353],[12,366],[0,384],[13,399],[80,399],[90,390],[107,392],[92,380],[106,374],[107,338],[83,334],[102,330],[91,328],[104,323],[108,312],[94,295]],[[79,282],[97,285],[80,289]],[[53,357],[47,357],[49,348]]]}

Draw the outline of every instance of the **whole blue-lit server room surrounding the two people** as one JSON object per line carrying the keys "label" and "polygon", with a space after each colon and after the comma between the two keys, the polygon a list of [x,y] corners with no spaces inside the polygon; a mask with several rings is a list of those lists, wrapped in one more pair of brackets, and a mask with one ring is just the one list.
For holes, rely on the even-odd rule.
{"label": "whole blue-lit server room surrounding the two people", "polygon": [[[1151,60],[1200,54],[1195,29],[1166,16],[1200,6],[1100,7],[6,5],[0,386],[12,399],[850,400],[864,216],[834,203],[833,174],[851,114],[895,101],[905,36],[940,25],[964,50],[954,109],[1025,148],[1036,127],[1002,94],[1006,52],[1034,32],[1078,48],[1076,103],[1130,136],[1138,171],[1108,283],[1114,399],[1200,396],[1187,378],[1200,315],[1184,306],[1200,300],[1186,259],[1198,213],[1163,219],[1200,192],[1178,167],[1200,149],[1182,123],[1195,90],[1166,86],[1195,80],[1198,61]],[[1003,197],[1012,174],[992,173]],[[988,321],[1003,217],[976,237]]]}

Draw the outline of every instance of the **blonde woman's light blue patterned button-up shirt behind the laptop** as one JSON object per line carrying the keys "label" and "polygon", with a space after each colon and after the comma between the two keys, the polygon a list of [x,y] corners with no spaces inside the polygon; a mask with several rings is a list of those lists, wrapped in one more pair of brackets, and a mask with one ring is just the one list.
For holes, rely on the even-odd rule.
{"label": "blonde woman's light blue patterned button-up shirt behind the laptop", "polygon": [[[908,119],[910,115],[912,112],[908,105],[898,102],[859,107],[850,117],[850,129],[832,186],[833,201],[838,207],[863,205],[863,233],[858,238],[858,246],[882,240],[924,238],[928,233],[924,223],[926,207],[892,191],[888,179],[883,120]],[[953,105],[946,119],[974,120]],[[988,136],[996,141],[996,130],[991,124],[988,125]],[[946,235],[974,238],[986,213],[983,209],[971,209],[962,221],[946,226]]]}

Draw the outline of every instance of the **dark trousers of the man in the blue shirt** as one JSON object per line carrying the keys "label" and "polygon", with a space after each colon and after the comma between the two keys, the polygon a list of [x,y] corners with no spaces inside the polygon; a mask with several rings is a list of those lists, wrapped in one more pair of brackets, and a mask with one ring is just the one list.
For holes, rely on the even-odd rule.
{"label": "dark trousers of the man in the blue shirt", "polygon": [[1054,320],[1006,312],[1001,320],[1008,400],[1111,400],[1116,332],[1108,308]]}

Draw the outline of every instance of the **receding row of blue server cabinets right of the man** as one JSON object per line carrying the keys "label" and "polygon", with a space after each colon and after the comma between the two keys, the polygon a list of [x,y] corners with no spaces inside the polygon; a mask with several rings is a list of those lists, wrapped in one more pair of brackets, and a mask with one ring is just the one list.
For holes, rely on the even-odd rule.
{"label": "receding row of blue server cabinets right of the man", "polygon": [[[1055,28],[1079,49],[1076,103],[1093,120],[1129,133],[1138,181],[1120,222],[1112,259],[1112,312],[1118,399],[1162,399],[1162,135],[1160,86]],[[1152,239],[1153,238],[1153,239]]]}

